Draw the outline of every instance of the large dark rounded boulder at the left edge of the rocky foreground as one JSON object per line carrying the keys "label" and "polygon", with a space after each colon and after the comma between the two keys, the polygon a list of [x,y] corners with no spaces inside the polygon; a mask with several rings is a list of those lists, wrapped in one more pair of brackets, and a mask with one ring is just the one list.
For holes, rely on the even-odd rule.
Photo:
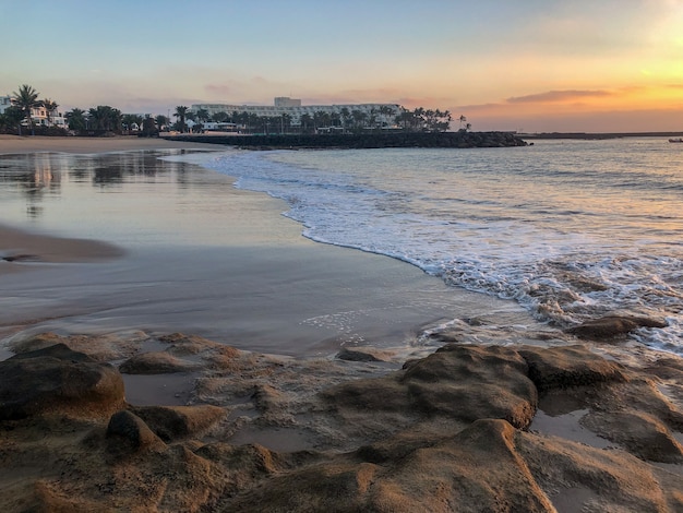
{"label": "large dark rounded boulder at the left edge of the rocky foreground", "polygon": [[0,420],[57,411],[105,415],[123,403],[123,380],[113,367],[63,344],[0,361]]}

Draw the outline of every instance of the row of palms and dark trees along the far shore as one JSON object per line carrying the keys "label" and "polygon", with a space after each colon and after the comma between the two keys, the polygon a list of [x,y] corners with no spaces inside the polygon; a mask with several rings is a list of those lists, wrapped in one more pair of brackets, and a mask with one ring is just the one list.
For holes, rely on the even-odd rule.
{"label": "row of palms and dark trees along the far shore", "polygon": [[[12,105],[0,115],[0,131],[22,134],[22,128],[35,134],[36,127],[33,110],[44,107],[48,127],[39,127],[39,133],[64,133],[63,129],[52,127],[51,117],[59,105],[49,98],[39,98],[39,93],[31,85],[22,85],[13,93]],[[243,133],[301,133],[312,134],[321,132],[334,133],[366,133],[386,130],[405,132],[445,132],[453,120],[448,110],[424,109],[414,110],[399,108],[398,114],[390,106],[363,110],[349,110],[346,107],[338,111],[319,110],[313,114],[303,114],[295,123],[292,116],[257,116],[253,112],[232,111],[216,112],[213,116],[205,109],[196,112],[187,106],[179,105],[172,115],[176,121],[166,116],[143,117],[140,115],[122,114],[119,109],[98,105],[87,110],[73,108],[64,114],[69,130],[80,135],[100,135],[111,133],[140,133],[155,135],[161,130],[175,130],[181,133],[189,131],[202,132],[206,123],[233,123]],[[460,116],[463,129],[464,116]],[[192,127],[188,121],[192,121]],[[469,130],[467,123],[465,129]]]}

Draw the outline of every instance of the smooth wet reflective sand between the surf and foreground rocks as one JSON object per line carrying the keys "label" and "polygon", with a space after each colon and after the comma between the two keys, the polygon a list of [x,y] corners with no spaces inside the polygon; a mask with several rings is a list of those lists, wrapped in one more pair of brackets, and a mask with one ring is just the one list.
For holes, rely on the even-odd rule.
{"label": "smooth wet reflective sand between the surf and foreground rocks", "polygon": [[[107,143],[77,144],[89,154]],[[139,140],[117,147],[129,143],[140,148]],[[285,203],[236,190],[230,177],[159,160],[180,150],[144,143],[147,152],[0,157],[11,169],[0,188],[0,254],[36,256],[0,261],[5,343],[46,331],[142,330],[288,356],[364,344],[409,354],[420,349],[421,330],[454,318],[532,322],[512,302],[446,287],[404,262],[312,242],[281,216]],[[111,253],[95,251],[95,241]]]}

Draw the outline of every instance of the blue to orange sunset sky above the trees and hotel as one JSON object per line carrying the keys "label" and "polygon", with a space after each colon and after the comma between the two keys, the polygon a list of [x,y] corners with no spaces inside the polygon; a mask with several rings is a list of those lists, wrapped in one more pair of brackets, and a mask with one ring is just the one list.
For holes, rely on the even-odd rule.
{"label": "blue to orange sunset sky above the trees and hotel", "polygon": [[683,131],[683,0],[0,0],[0,95],[168,115],[392,103],[472,130]]}

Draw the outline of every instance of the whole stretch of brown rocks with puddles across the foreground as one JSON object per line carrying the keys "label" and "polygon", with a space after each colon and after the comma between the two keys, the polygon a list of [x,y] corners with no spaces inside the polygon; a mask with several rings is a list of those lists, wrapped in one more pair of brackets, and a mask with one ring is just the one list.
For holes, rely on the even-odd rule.
{"label": "whole stretch of brown rocks with puddles across the foreground", "polygon": [[[379,351],[301,361],[181,334],[16,343],[0,511],[683,511],[681,359],[439,337],[394,370]],[[127,380],[153,375],[187,404],[130,404]]]}

